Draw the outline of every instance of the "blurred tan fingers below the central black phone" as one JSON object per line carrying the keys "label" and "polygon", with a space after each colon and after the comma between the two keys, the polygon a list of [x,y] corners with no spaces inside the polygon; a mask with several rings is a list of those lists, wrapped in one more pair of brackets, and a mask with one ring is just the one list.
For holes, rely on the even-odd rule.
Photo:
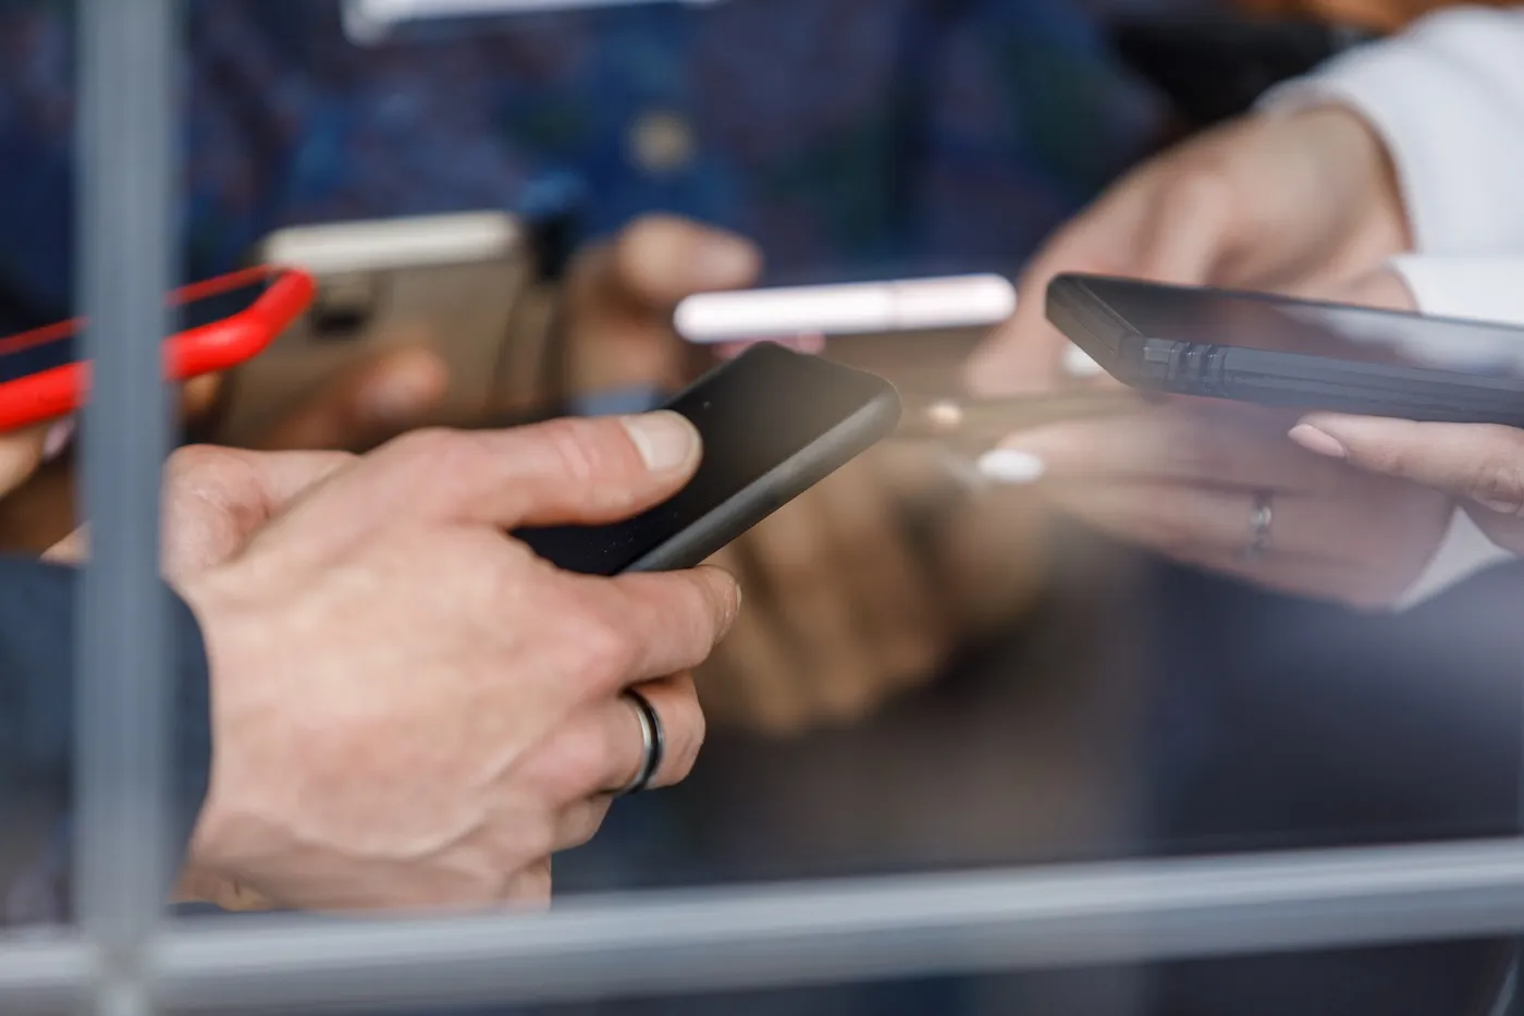
{"label": "blurred tan fingers below the central black phone", "polygon": [[847,723],[937,673],[959,630],[905,500],[948,482],[919,449],[876,449],[713,558],[750,590],[701,671],[716,723]]}

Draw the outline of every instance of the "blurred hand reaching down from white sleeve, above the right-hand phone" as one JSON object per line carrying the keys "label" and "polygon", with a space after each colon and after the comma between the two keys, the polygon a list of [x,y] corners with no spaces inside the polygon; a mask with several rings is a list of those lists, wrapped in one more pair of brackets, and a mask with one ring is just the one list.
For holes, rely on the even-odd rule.
{"label": "blurred hand reaching down from white sleeve, above the right-hand phone", "polygon": [[983,392],[1049,389],[1085,366],[1045,319],[1061,272],[1311,293],[1408,246],[1385,148],[1359,116],[1324,107],[1237,121],[1128,174],[1059,230],[968,380]]}

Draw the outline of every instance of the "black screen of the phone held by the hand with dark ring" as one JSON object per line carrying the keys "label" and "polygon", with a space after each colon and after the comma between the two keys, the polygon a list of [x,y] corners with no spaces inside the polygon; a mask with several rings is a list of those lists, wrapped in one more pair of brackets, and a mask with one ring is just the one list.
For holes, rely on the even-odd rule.
{"label": "black screen of the phone held by the hand with dark ring", "polygon": [[[844,445],[821,447],[828,435],[887,400],[893,403],[892,413],[849,436]],[[704,439],[698,473],[675,497],[608,526],[559,526],[515,535],[565,571],[617,575],[738,496],[774,500],[796,496],[800,491],[759,491],[756,485],[812,445],[821,456],[835,456],[824,471],[843,465],[895,426],[898,403],[887,381],[864,371],[776,345],[754,346],[666,404],[692,420]],[[719,545],[738,535],[727,532]]]}

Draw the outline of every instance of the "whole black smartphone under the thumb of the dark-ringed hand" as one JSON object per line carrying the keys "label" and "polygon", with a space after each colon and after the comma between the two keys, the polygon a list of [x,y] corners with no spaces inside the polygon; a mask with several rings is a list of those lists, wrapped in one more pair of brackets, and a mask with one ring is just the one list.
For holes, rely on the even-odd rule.
{"label": "whole black smartphone under the thumb of the dark-ringed hand", "polygon": [[514,535],[585,575],[695,567],[899,424],[888,381],[773,343],[710,371],[664,409],[692,420],[704,438],[687,487],[625,522]]}

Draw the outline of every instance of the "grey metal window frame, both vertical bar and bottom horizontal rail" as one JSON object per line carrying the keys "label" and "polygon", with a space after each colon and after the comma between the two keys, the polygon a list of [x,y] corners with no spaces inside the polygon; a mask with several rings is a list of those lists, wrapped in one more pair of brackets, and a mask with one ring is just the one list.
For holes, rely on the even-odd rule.
{"label": "grey metal window frame, both vertical bar and bottom horizontal rail", "polygon": [[[85,413],[78,929],[0,937],[0,1010],[376,1011],[1506,934],[1524,841],[634,894],[546,917],[162,923],[175,0],[82,0]],[[110,159],[102,154],[110,153]],[[93,157],[88,157],[93,156]]]}

